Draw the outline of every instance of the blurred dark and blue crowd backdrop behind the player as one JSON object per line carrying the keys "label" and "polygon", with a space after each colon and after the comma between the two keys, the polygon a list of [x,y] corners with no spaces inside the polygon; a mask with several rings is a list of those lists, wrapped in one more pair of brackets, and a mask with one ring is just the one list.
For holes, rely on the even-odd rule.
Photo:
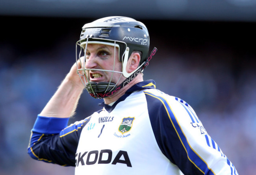
{"label": "blurred dark and blue crowd backdrop behind the player", "polygon": [[[150,48],[158,48],[144,79],[190,104],[239,174],[254,175],[256,23],[136,19],[148,27]],[[83,24],[92,20],[0,16],[0,175],[74,174],[31,159],[27,146],[37,114],[75,62]],[[100,102],[84,91],[69,123]]]}

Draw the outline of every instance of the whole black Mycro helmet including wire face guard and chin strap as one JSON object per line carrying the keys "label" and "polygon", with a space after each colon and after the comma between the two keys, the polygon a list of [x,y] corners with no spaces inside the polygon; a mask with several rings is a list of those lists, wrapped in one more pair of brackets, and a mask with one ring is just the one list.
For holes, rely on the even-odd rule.
{"label": "whole black Mycro helmet including wire face guard and chin strap", "polygon": [[[115,71],[115,59],[113,69],[85,69],[85,51],[88,44],[105,44],[118,49],[118,59],[122,63],[122,71]],[[146,26],[132,18],[123,16],[110,16],[101,18],[92,23],[85,24],[82,28],[80,40],[76,42],[76,63],[77,73],[85,86],[85,89],[94,98],[105,98],[113,95],[122,87],[134,79],[148,65],[151,59],[148,56],[149,35]],[[141,52],[141,61],[139,67],[132,73],[126,72],[128,58],[133,51]],[[156,48],[154,49],[156,51]],[[155,52],[154,52],[155,53]],[[78,65],[81,65],[80,66]],[[108,71],[111,72],[111,78],[108,82],[90,82],[89,71]],[[112,82],[113,75],[120,74],[117,82]],[[122,83],[119,83],[121,77],[125,77]]]}

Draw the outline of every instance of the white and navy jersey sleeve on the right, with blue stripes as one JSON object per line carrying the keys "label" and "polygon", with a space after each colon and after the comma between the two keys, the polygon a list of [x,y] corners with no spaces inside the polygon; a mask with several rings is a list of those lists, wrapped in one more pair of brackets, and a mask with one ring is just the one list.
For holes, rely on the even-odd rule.
{"label": "white and navy jersey sleeve on the right, with blue stripes", "polygon": [[184,175],[238,175],[191,106],[168,95],[145,95],[156,142]]}

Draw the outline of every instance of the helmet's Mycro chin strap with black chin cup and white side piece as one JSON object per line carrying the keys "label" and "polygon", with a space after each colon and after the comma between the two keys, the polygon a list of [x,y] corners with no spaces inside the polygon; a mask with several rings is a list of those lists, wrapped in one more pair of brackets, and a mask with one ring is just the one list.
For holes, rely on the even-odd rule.
{"label": "helmet's Mycro chin strap with black chin cup and white side piece", "polygon": [[[99,82],[99,83],[90,82],[90,83],[86,83],[86,88],[88,89],[89,94],[91,95],[91,97],[93,97],[93,98],[106,98],[106,97],[109,97],[109,96],[113,95],[117,91],[119,91],[121,88],[123,88],[128,83],[130,83],[137,75],[139,75],[139,73],[143,72],[143,70],[148,66],[148,62],[156,54],[156,51],[157,51],[157,49],[156,49],[156,47],[154,47],[153,51],[150,53],[147,60],[143,64],[141,64],[141,66],[139,66],[137,69],[135,69],[131,73],[127,73],[126,69],[124,69],[124,67],[126,67],[127,61],[128,61],[128,54],[125,53],[125,56],[124,56],[125,66],[123,64],[122,73],[123,73],[123,75],[125,74],[124,77],[127,76],[126,79],[121,84],[119,84],[118,86],[113,82]],[[129,52],[129,48],[126,49],[126,52]]]}

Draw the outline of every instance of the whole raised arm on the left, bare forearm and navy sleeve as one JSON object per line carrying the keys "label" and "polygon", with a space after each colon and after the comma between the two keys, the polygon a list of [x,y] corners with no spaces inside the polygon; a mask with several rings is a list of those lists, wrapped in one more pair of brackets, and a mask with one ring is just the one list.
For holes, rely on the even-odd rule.
{"label": "whole raised arm on the left, bare forearm and navy sleeve", "polygon": [[[74,114],[83,84],[74,64],[56,93],[37,117],[32,128],[28,154],[35,160],[62,166],[75,165],[75,152],[85,119],[67,127]],[[73,131],[73,132],[70,132]]]}

